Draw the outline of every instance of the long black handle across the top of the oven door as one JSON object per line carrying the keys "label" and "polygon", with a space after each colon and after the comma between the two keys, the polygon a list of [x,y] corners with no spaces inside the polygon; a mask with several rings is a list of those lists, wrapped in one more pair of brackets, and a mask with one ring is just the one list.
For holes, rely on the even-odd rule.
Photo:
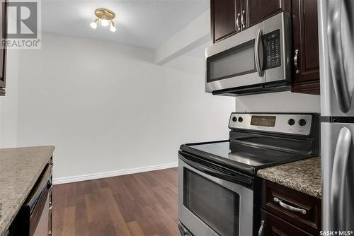
{"label": "long black handle across the top of the oven door", "polygon": [[205,165],[202,165],[201,163],[194,162],[193,160],[188,160],[187,158],[183,158],[183,162],[187,163],[191,167],[199,170],[200,172],[204,172],[207,175],[211,175],[213,177],[217,177],[219,179],[225,179],[231,182],[236,182],[239,184],[245,184],[248,187],[251,187],[252,185],[252,179],[247,178],[247,177],[241,177],[241,176],[235,176],[232,175],[232,173],[225,173],[219,170],[215,170],[211,167],[207,167]]}

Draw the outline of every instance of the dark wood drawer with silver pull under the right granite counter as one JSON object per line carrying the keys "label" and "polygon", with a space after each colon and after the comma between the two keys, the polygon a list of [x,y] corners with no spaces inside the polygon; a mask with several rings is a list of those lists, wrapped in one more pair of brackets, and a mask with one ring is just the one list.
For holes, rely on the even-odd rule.
{"label": "dark wood drawer with silver pull under the right granite counter", "polygon": [[265,181],[265,210],[307,232],[321,230],[321,200]]}

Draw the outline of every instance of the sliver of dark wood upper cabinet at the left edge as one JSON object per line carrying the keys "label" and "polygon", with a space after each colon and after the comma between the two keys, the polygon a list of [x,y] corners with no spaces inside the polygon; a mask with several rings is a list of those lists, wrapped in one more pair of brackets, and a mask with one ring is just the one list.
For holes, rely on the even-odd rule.
{"label": "sliver of dark wood upper cabinet at the left edge", "polygon": [[[0,42],[6,40],[7,34],[7,0],[0,4]],[[6,48],[0,48],[0,95],[5,95],[6,87]]]}

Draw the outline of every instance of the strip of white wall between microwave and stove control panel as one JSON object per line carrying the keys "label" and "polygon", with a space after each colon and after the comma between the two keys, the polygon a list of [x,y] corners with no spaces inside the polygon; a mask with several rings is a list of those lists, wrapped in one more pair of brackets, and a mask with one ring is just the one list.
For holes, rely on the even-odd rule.
{"label": "strip of white wall between microwave and stove control panel", "polygon": [[300,93],[265,93],[236,97],[236,112],[321,112],[320,97]]}

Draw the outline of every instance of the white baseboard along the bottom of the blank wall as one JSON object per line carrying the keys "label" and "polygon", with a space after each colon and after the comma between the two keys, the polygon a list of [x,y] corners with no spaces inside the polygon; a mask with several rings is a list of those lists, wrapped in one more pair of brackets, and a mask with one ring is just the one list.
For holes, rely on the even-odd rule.
{"label": "white baseboard along the bottom of the blank wall", "polygon": [[125,169],[125,170],[113,170],[113,171],[101,172],[101,173],[95,173],[89,175],[76,175],[72,177],[55,178],[53,179],[53,184],[67,184],[67,183],[79,182],[79,181],[90,180],[90,179],[101,179],[106,177],[115,177],[119,175],[130,175],[130,174],[147,172],[152,170],[169,169],[173,167],[178,167],[178,163],[168,163],[162,165],[152,165],[147,167],[137,167],[137,168]]}

